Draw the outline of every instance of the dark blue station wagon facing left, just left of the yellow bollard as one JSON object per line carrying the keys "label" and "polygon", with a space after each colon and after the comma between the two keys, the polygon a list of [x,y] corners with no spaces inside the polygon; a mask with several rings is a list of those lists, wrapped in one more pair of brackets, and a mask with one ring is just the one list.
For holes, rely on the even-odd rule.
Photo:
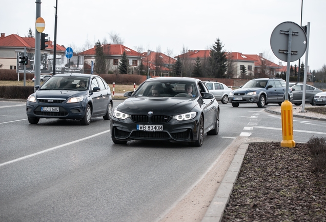
{"label": "dark blue station wagon facing left, just left of the yellow bollard", "polygon": [[[268,103],[281,105],[285,99],[286,81],[280,78],[260,78],[248,81],[242,87],[231,91],[229,101],[233,107],[240,103],[257,103],[264,107]],[[289,87],[288,100],[293,99],[292,89]]]}

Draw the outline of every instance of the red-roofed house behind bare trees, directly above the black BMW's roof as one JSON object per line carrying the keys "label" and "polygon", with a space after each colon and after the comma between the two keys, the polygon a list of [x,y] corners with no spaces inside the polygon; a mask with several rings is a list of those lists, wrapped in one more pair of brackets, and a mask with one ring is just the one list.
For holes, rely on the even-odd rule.
{"label": "red-roofed house behind bare trees, directly above the black BMW's roof", "polygon": [[142,53],[142,65],[147,68],[148,76],[170,76],[175,59],[162,52],[148,50]]}

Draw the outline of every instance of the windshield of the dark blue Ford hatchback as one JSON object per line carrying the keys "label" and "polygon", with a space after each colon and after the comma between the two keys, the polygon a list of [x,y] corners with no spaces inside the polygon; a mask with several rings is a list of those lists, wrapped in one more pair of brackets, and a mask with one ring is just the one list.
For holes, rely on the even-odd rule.
{"label": "windshield of the dark blue Ford hatchback", "polygon": [[[86,90],[89,78],[54,76],[46,81],[39,89],[42,90]],[[84,83],[84,84],[80,84]]]}

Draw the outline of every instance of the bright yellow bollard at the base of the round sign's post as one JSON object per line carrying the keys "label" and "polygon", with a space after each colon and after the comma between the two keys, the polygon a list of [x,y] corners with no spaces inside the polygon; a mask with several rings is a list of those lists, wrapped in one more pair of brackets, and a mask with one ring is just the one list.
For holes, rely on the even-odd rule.
{"label": "bright yellow bollard at the base of the round sign's post", "polygon": [[281,147],[295,147],[293,140],[293,105],[289,100],[281,104],[282,138]]}

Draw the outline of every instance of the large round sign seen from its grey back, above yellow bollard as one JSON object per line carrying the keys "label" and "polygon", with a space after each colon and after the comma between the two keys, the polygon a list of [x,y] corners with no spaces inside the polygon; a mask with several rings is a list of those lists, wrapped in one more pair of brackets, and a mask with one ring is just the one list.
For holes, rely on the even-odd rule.
{"label": "large round sign seen from its grey back, above yellow bollard", "polygon": [[307,49],[307,35],[299,26],[294,22],[283,22],[276,26],[271,35],[271,48],[275,56],[288,62],[288,44],[289,44],[289,30],[292,30],[291,41],[291,61],[297,61],[302,57]]}

